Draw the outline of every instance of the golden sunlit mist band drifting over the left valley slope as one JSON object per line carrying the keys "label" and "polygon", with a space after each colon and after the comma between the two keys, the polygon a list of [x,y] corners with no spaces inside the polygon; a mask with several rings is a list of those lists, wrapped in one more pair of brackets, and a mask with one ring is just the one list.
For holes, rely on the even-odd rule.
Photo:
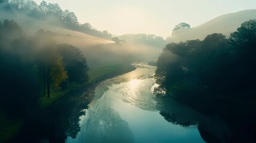
{"label": "golden sunlit mist band drifting over the left valley slope", "polygon": [[67,43],[79,48],[86,56],[89,67],[150,61],[156,59],[161,53],[161,48],[132,42],[115,43],[108,39],[66,29],[55,20],[55,17],[47,17],[41,21],[29,17],[26,13],[29,11],[26,11],[25,14],[17,13],[15,10],[11,10],[11,13],[10,11],[2,11],[1,20],[8,17],[8,19],[17,21],[23,29],[23,34],[28,36],[34,35],[40,29],[52,32],[56,43]]}

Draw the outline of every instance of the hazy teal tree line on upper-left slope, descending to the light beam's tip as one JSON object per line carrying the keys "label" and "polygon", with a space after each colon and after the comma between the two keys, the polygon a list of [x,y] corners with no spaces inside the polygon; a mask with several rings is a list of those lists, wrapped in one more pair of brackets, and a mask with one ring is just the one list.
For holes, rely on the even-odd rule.
{"label": "hazy teal tree line on upper-left slope, descending to the light beam's tip", "polygon": [[75,13],[69,10],[62,10],[57,3],[47,4],[46,1],[42,1],[40,5],[37,5],[35,1],[32,0],[11,0],[9,2],[5,1],[5,3],[9,4],[10,9],[26,14],[37,20],[44,20],[56,26],[77,30],[99,38],[112,39],[112,34],[107,30],[98,31],[93,28],[90,23],[80,24]]}

